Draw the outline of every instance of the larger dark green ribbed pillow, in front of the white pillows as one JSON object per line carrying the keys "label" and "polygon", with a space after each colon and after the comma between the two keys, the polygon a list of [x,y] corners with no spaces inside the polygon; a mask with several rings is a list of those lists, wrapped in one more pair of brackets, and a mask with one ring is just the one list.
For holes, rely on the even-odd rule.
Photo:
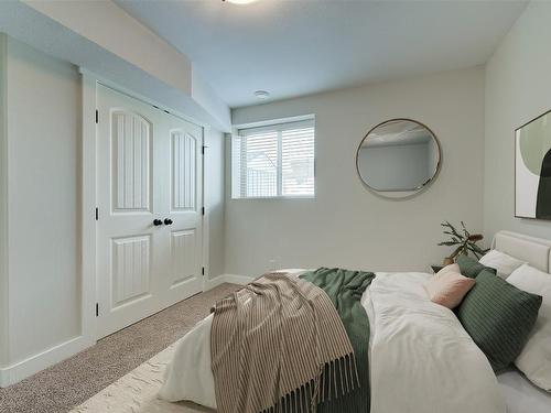
{"label": "larger dark green ribbed pillow, in front of the white pillows", "polygon": [[461,303],[457,318],[497,372],[522,350],[538,318],[541,301],[541,296],[521,291],[483,270]]}

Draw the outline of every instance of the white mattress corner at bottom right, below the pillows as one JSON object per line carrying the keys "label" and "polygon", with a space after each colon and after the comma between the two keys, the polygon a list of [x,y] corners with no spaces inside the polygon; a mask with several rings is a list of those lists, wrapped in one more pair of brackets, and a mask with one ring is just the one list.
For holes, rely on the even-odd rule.
{"label": "white mattress corner at bottom right, below the pillows", "polygon": [[497,381],[507,402],[507,413],[551,412],[551,393],[533,385],[518,370],[498,374]]}

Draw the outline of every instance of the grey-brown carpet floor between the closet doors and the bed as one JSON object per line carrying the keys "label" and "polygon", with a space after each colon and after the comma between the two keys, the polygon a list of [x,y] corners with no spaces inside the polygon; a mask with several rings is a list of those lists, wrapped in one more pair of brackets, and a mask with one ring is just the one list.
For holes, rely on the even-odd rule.
{"label": "grey-brown carpet floor between the closet doors and the bed", "polygon": [[238,285],[222,284],[99,340],[18,384],[0,389],[2,413],[66,413],[183,337]]}

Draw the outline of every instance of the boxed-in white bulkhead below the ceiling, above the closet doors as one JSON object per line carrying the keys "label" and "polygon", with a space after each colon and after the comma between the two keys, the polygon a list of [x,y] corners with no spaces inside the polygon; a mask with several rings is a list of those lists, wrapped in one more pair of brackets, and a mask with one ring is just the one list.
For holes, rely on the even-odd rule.
{"label": "boxed-in white bulkhead below the ceiling, above the closet doors", "polygon": [[159,107],[230,130],[229,108],[191,61],[111,1],[0,1],[0,32]]}

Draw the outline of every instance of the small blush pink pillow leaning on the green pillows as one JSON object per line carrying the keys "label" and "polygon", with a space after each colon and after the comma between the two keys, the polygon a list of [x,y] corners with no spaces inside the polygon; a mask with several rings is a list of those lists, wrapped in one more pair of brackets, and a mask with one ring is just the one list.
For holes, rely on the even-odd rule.
{"label": "small blush pink pillow leaning on the green pillows", "polygon": [[476,283],[475,279],[469,279],[462,275],[460,271],[454,271],[454,265],[457,264],[444,267],[425,285],[431,301],[450,309],[460,305],[463,297]]}

